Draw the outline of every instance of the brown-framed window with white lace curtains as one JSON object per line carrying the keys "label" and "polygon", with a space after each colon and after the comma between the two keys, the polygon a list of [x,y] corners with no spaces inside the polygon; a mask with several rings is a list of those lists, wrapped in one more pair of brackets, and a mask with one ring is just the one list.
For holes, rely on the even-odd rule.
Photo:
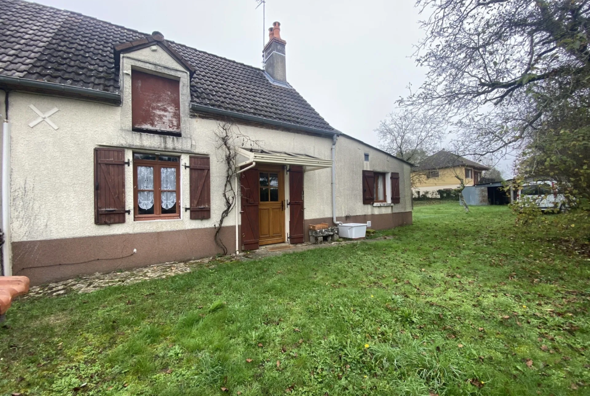
{"label": "brown-framed window with white lace curtains", "polygon": [[133,153],[135,220],[180,218],[180,158]]}

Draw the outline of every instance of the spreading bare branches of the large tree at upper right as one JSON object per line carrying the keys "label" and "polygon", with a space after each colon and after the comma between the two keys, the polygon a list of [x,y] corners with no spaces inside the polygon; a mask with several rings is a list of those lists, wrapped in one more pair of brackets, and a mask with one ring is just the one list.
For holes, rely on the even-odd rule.
{"label": "spreading bare branches of the large tree at upper right", "polygon": [[463,155],[523,149],[590,104],[590,0],[417,0],[425,82],[401,104],[454,120]]}

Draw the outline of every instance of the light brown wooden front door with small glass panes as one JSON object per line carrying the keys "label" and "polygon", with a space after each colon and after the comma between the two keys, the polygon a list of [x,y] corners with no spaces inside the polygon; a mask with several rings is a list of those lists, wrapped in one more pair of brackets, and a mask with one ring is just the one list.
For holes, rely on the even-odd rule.
{"label": "light brown wooden front door with small glass panes", "polygon": [[285,204],[282,166],[258,168],[258,194],[260,244],[284,242]]}

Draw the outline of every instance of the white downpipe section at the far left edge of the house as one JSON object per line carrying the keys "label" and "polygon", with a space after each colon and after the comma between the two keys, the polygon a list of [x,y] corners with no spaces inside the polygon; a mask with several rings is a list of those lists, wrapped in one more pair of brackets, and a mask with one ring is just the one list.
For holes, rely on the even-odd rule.
{"label": "white downpipe section at the far left edge of the house", "polygon": [[2,123],[2,260],[4,276],[12,276],[12,238],[10,233],[10,122]]}

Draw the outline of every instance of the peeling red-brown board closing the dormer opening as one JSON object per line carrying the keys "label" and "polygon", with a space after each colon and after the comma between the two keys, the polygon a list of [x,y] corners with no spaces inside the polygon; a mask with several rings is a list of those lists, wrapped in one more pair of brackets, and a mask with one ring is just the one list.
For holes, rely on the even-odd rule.
{"label": "peeling red-brown board closing the dormer opening", "polygon": [[181,135],[180,81],[132,70],[133,130]]}

